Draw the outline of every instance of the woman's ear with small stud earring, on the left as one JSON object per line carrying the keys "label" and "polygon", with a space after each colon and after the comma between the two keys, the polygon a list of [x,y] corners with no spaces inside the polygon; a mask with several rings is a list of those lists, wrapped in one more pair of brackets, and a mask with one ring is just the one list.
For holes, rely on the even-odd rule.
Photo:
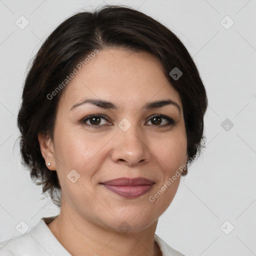
{"label": "woman's ear with small stud earring, on the left", "polygon": [[[48,135],[46,136],[42,133],[38,133],[37,138],[39,141],[42,157],[45,160],[45,165],[50,170],[56,170],[53,141]],[[47,164],[48,162],[50,162],[49,166]]]}

